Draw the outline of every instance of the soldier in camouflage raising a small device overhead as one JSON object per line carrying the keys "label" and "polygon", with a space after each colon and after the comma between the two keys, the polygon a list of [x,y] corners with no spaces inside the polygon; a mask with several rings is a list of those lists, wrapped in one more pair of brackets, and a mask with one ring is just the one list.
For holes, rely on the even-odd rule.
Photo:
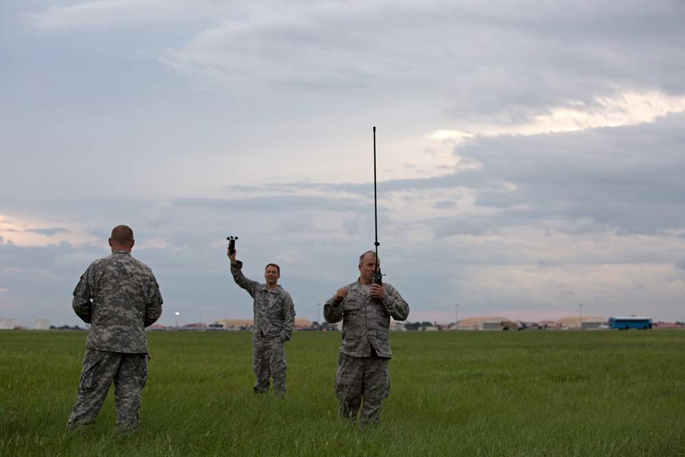
{"label": "soldier in camouflage raising a small device overhead", "polygon": [[273,379],[273,391],[286,396],[286,348],[284,343],[295,330],[295,305],[290,294],[277,284],[281,270],[270,263],[264,269],[266,284],[247,279],[242,274],[242,262],[236,260],[237,251],[228,252],[231,273],[238,286],[244,288],[254,299],[254,322],[252,328],[252,371],[257,380],[254,391],[269,391],[269,378]]}

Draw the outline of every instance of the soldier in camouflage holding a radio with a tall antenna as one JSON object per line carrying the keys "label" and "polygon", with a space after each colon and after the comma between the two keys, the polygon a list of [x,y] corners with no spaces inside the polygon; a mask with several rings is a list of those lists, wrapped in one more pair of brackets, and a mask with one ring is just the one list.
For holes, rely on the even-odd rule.
{"label": "soldier in camouflage holding a radio with a tall antenna", "polygon": [[338,355],[335,392],[338,417],[356,421],[362,399],[361,425],[375,425],[383,400],[390,395],[390,317],[405,321],[409,305],[390,284],[373,284],[380,260],[374,251],[359,258],[359,279],[339,288],[323,306],[329,323],[343,321],[343,344]]}

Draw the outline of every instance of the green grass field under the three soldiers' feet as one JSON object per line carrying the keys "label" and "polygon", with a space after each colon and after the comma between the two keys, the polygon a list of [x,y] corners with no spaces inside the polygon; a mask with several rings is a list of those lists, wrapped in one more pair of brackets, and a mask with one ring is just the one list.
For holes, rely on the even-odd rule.
{"label": "green grass field under the three soldiers' feet", "polygon": [[397,332],[377,428],[338,421],[339,332],[286,343],[252,393],[251,334],[153,332],[140,430],[64,431],[85,332],[0,332],[0,456],[685,456],[685,332]]}

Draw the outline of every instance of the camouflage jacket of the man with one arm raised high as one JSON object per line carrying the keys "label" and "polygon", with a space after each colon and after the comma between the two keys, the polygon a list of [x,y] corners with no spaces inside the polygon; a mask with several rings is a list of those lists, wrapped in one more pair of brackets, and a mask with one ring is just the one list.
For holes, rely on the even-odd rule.
{"label": "camouflage jacket of the man with one arm raised high", "polygon": [[295,305],[290,294],[278,286],[269,291],[266,284],[249,280],[242,274],[242,262],[231,265],[233,279],[254,299],[253,332],[267,338],[281,337],[288,341],[295,330]]}

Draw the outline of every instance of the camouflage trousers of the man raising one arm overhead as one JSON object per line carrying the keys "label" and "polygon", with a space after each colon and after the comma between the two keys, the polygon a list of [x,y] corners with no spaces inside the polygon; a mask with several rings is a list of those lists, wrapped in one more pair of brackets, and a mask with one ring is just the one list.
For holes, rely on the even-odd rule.
{"label": "camouflage trousers of the man raising one arm overhead", "polygon": [[253,335],[252,371],[257,377],[254,386],[256,393],[268,392],[269,378],[272,378],[273,391],[286,396],[286,347],[280,337]]}

